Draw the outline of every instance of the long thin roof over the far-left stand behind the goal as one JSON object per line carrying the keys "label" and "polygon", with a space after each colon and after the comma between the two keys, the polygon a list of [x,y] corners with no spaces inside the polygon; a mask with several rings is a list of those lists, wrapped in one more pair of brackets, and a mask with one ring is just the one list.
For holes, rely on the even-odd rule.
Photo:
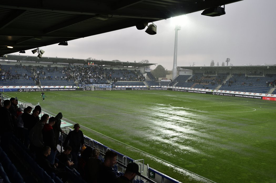
{"label": "long thin roof over the far-left stand behind the goal", "polygon": [[[1,59],[0,59],[1,60]],[[42,57],[37,56],[23,56],[23,55],[9,55],[7,58],[2,60],[17,61],[17,62],[46,62],[46,63],[64,63],[64,64],[84,64],[93,62],[95,65],[110,65],[110,66],[124,66],[124,67],[145,67],[155,65],[155,63],[139,63],[139,62],[121,62],[121,61],[107,61],[107,60],[87,60],[87,59],[74,59],[74,58],[58,58],[58,57]]]}

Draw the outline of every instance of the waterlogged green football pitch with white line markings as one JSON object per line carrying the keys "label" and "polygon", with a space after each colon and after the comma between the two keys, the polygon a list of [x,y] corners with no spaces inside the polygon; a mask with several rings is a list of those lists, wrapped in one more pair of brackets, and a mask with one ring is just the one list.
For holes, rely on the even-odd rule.
{"label": "waterlogged green football pitch with white line markings", "polygon": [[[5,93],[181,182],[276,182],[276,102],[175,91]],[[87,127],[87,128],[86,128]],[[91,129],[91,130],[90,130]]]}

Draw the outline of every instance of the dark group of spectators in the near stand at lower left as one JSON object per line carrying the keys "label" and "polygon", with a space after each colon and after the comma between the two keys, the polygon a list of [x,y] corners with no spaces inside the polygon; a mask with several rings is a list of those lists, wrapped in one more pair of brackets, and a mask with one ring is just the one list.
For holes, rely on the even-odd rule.
{"label": "dark group of spectators in the near stand at lower left", "polygon": [[[9,151],[11,137],[15,135],[30,150],[35,161],[47,174],[54,173],[66,182],[71,173],[67,170],[69,168],[79,172],[81,178],[87,183],[131,182],[136,175],[140,175],[138,165],[129,163],[126,173],[118,177],[113,170],[117,154],[114,151],[107,151],[102,162],[99,159],[99,149],[85,148],[84,136],[79,130],[79,124],[75,124],[74,130],[70,131],[65,138],[64,151],[58,153],[57,139],[59,136],[56,134],[62,132],[59,122],[62,113],[51,118],[48,114],[44,114],[39,118],[40,106],[36,106],[32,112],[31,107],[23,110],[18,107],[18,100],[15,98],[4,102],[1,99],[0,104],[0,145],[2,149]],[[79,152],[81,152],[81,157],[78,156]]]}

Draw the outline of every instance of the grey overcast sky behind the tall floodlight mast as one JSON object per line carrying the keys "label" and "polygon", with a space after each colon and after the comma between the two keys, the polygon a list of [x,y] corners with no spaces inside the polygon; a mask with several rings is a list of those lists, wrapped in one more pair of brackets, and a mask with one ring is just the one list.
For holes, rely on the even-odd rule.
{"label": "grey overcast sky behind the tall floodlight mast", "polygon": [[181,17],[178,23],[176,18],[156,21],[155,35],[130,27],[41,49],[43,57],[148,59],[172,70],[174,29],[179,24],[177,66],[210,66],[211,60],[221,66],[227,58],[234,66],[276,64],[275,7],[275,0],[244,0],[225,5],[226,14],[218,17],[203,16],[200,11]]}

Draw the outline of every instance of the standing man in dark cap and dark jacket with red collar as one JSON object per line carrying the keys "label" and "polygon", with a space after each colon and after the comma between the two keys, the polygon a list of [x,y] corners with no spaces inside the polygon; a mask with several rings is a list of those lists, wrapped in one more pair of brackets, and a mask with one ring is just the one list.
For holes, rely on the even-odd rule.
{"label": "standing man in dark cap and dark jacket with red collar", "polygon": [[44,146],[49,146],[51,148],[51,154],[47,157],[47,159],[52,164],[55,162],[55,154],[57,153],[57,148],[55,147],[55,132],[52,127],[54,124],[55,117],[51,117],[42,129]]}

